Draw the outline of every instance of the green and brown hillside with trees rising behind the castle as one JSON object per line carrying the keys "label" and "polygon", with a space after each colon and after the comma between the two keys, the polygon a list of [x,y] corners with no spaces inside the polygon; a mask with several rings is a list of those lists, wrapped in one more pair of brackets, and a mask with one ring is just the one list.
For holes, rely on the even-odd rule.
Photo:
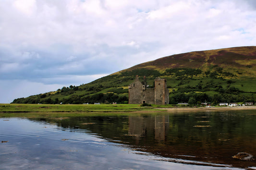
{"label": "green and brown hillside with trees rising behind the castle", "polygon": [[170,103],[256,101],[256,47],[235,47],[171,55],[135,65],[80,86],[14,99],[12,103],[127,103],[135,75],[167,79]]}

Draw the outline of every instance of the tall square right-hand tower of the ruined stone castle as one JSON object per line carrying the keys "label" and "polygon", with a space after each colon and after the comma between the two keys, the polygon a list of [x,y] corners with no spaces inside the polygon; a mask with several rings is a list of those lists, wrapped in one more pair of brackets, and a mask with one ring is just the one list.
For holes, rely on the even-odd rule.
{"label": "tall square right-hand tower of the ruined stone castle", "polygon": [[166,105],[169,103],[169,89],[167,89],[166,79],[155,79],[155,104]]}

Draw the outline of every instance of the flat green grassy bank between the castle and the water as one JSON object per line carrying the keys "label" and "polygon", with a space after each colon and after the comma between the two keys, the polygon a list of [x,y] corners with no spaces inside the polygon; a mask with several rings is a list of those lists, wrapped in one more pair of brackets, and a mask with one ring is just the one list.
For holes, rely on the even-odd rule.
{"label": "flat green grassy bank between the castle and the water", "polygon": [[198,112],[198,111],[223,111],[254,109],[255,106],[243,107],[192,107],[177,105],[152,105],[141,107],[138,104],[100,104],[100,105],[53,105],[53,104],[0,104],[0,117],[70,117],[96,114],[136,113],[136,112]]}

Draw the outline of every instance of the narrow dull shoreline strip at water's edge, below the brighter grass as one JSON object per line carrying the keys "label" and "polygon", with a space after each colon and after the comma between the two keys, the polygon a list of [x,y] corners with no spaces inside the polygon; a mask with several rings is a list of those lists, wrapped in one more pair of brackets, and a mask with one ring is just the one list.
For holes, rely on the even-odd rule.
{"label": "narrow dull shoreline strip at water's edge, below the brighter grass", "polygon": [[[151,110],[150,110],[151,109]],[[154,109],[154,110],[152,110]],[[0,111],[0,118],[6,117],[74,117],[74,116],[95,116],[95,115],[109,115],[109,114],[161,114],[161,113],[170,113],[170,114],[193,114],[193,113],[200,113],[200,112],[219,112],[219,111],[234,111],[235,113],[239,113],[240,111],[243,112],[246,110],[252,110],[250,114],[256,114],[256,106],[243,106],[243,107],[217,107],[217,108],[145,108],[141,110],[15,110],[15,111]],[[255,110],[255,111],[254,111]]]}

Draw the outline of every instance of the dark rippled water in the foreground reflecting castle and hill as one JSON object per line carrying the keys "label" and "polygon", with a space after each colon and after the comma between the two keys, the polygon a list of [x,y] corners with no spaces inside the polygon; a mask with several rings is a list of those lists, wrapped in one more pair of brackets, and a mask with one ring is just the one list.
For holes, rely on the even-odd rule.
{"label": "dark rippled water in the foreground reflecting castle and hill", "polygon": [[0,169],[256,169],[256,111],[0,118]]}

